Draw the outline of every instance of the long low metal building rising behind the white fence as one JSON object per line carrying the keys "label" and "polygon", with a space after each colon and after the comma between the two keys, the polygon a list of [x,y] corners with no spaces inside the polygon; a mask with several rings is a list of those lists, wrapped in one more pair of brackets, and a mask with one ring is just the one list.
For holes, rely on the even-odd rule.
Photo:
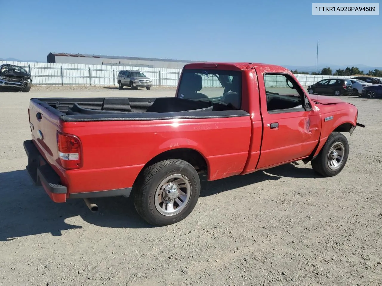
{"label": "long low metal building rising behind the white fence", "polygon": [[156,59],[156,58],[136,58],[129,56],[102,56],[87,54],[49,53],[48,63],[66,64],[100,64],[100,65],[121,65],[139,67],[160,67],[181,69],[185,64],[197,63],[200,61],[187,61],[178,59]]}

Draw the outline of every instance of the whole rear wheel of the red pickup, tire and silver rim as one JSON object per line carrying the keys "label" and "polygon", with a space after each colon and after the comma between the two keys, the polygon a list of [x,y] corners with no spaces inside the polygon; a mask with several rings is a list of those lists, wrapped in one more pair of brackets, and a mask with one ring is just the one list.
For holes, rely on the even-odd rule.
{"label": "whole rear wheel of the red pickup, tire and silver rim", "polygon": [[168,159],[147,167],[137,181],[133,186],[134,206],[151,225],[180,222],[199,199],[199,175],[191,164],[180,159]]}

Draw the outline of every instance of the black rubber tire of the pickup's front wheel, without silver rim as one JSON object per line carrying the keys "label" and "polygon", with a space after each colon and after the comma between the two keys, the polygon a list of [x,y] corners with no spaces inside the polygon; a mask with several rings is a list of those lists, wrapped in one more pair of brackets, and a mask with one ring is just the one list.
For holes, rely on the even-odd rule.
{"label": "black rubber tire of the pickup's front wheel, without silver rim", "polygon": [[[343,146],[343,156],[342,161],[340,161],[339,166],[336,169],[332,169],[329,166],[329,153],[331,149],[336,144]],[[328,139],[326,140],[324,146],[322,147],[320,153],[311,161],[312,168],[314,171],[319,173],[324,177],[333,177],[340,173],[346,165],[349,156],[349,143],[345,135],[339,132],[330,133]]]}

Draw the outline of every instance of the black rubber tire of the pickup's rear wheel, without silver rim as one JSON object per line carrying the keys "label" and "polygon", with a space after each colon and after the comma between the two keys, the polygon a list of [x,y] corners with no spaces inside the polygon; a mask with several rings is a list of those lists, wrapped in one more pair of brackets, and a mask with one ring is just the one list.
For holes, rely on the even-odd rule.
{"label": "black rubber tire of the pickup's rear wheel, without silver rim", "polygon": [[[177,214],[164,215],[159,212],[155,203],[155,198],[159,198],[160,193],[158,196],[155,196],[155,193],[163,180],[176,174],[187,178],[190,186],[189,199],[188,201],[185,200],[185,206]],[[180,159],[168,159],[158,162],[147,167],[133,186],[135,209],[147,223],[154,226],[159,227],[180,222],[185,219],[196,206],[200,194],[200,185],[199,175],[195,168],[188,162]]]}

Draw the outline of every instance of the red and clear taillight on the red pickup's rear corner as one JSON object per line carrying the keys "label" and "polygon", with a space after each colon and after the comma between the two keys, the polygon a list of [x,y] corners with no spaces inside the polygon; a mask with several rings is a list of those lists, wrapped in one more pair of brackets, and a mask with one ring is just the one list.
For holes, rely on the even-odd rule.
{"label": "red and clear taillight on the red pickup's rear corner", "polygon": [[81,141],[70,134],[57,132],[58,157],[65,169],[82,167]]}

